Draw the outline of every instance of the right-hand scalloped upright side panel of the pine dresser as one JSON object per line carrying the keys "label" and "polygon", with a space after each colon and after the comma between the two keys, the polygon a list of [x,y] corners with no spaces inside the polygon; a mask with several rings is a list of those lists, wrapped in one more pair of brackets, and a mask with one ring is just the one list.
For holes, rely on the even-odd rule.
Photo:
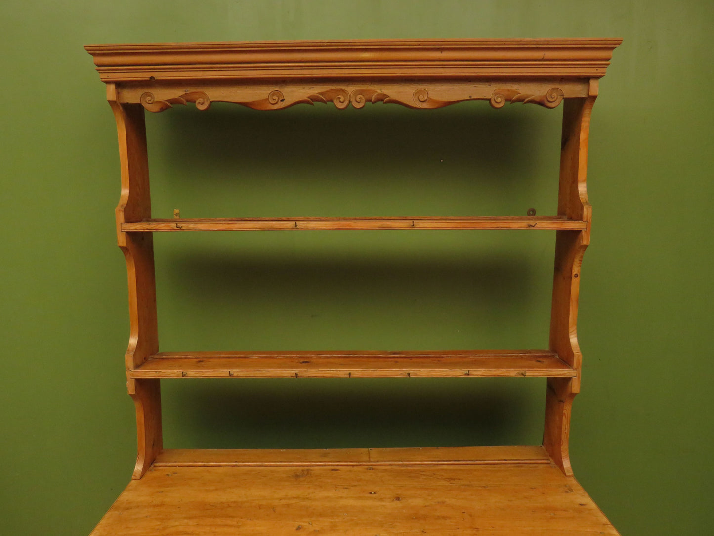
{"label": "right-hand scalloped upright side panel of the pine dresser", "polygon": [[548,379],[545,397],[543,447],[565,475],[573,475],[568,441],[570,409],[580,392],[583,354],[578,345],[578,293],[580,265],[590,244],[592,207],[588,202],[585,171],[588,165],[590,113],[598,96],[598,80],[590,80],[589,95],[567,99],[563,108],[563,133],[560,149],[558,214],[585,221],[585,230],[558,231],[555,238],[553,302],[550,309],[550,349],[577,371],[569,379]]}

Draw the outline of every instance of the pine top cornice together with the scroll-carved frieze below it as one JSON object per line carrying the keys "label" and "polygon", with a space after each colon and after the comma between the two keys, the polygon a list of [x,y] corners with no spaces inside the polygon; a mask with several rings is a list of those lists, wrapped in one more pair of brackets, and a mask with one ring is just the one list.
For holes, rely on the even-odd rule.
{"label": "pine top cornice together with the scroll-carved frieze below it", "polygon": [[98,44],[109,99],[163,111],[193,102],[259,110],[333,102],[433,109],[486,100],[555,108],[597,94],[621,39],[391,39]]}

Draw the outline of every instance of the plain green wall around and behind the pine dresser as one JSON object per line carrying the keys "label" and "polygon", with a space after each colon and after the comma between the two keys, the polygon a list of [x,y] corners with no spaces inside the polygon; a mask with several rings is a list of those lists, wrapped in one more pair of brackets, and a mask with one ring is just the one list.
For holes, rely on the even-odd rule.
{"label": "plain green wall around and behind the pine dresser", "polygon": [[[708,535],[710,1],[0,5],[0,532],[86,535],[134,465],[116,130],[82,45],[620,36],[591,129],[575,475],[623,535]],[[149,114],[154,216],[553,214],[560,109]],[[547,344],[550,232],[156,237],[161,349]],[[538,443],[537,379],[174,380],[167,447]]]}

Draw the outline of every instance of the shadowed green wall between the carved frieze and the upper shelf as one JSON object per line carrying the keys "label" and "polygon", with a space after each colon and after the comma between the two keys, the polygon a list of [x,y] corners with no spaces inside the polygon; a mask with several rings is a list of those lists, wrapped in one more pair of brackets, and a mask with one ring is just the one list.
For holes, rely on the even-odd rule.
{"label": "shadowed green wall between the carved frieze and the upper shelf", "polygon": [[559,111],[214,107],[148,114],[155,217],[555,212]]}

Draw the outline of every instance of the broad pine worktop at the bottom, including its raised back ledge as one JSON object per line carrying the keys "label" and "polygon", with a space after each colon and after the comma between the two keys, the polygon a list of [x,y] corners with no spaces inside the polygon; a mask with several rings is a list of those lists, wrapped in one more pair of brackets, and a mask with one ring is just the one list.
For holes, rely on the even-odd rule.
{"label": "broad pine worktop at the bottom, including its raised back ledge", "polygon": [[91,536],[302,532],[618,535],[542,447],[509,446],[166,450]]}

